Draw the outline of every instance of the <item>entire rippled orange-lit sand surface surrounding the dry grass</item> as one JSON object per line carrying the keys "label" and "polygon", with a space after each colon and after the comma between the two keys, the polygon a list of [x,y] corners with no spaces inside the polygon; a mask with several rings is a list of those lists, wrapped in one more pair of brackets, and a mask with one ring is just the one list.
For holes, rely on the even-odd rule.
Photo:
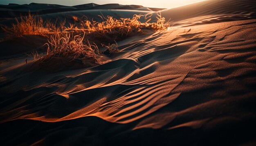
{"label": "entire rippled orange-lit sand surface surrounding the dry grass", "polygon": [[[76,23],[72,16],[155,18],[160,9],[9,4],[0,6],[0,24],[28,10]],[[171,27],[118,41],[118,51],[96,56],[99,64],[40,64],[26,53],[45,53],[46,38],[8,40],[1,30],[1,145],[256,145],[256,1],[160,12]]]}

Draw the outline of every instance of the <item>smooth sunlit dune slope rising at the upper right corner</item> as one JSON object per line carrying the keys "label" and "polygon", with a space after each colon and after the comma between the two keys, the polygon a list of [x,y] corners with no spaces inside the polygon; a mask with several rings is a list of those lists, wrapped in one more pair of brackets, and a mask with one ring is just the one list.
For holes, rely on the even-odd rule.
{"label": "smooth sunlit dune slope rising at the upper right corner", "polygon": [[174,9],[162,10],[166,19],[171,19],[173,25],[209,24],[235,20],[256,18],[255,0],[207,0]]}

